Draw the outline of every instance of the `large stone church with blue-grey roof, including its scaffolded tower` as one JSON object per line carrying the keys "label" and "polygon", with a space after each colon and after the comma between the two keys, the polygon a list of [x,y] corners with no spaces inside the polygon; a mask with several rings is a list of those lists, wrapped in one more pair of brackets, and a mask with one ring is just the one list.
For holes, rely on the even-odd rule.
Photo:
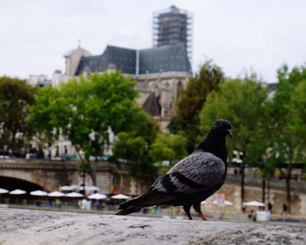
{"label": "large stone church with blue-grey roof, including its scaffolded tower", "polygon": [[[80,75],[86,77],[90,72],[112,72],[119,69],[124,76],[137,81],[136,88],[140,93],[138,104],[159,122],[162,131],[167,131],[175,115],[178,89],[185,87],[192,76],[192,17],[186,11],[171,6],[170,10],[154,14],[153,21],[153,37],[157,38],[152,48],[131,49],[108,45],[102,54],[92,55],[79,45],[64,54],[65,72],[56,70],[51,82],[44,76],[32,76],[29,82],[40,86],[51,83],[57,87],[60,82],[67,82]],[[112,144],[114,136],[109,135]],[[52,156],[74,154],[71,142],[64,137],[52,147]],[[111,146],[105,154],[111,155]]]}

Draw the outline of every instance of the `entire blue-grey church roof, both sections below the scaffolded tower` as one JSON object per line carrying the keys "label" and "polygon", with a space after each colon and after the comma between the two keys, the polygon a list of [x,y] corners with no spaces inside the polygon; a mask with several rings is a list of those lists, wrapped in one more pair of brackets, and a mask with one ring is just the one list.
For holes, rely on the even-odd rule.
{"label": "entire blue-grey church roof, both sections below the scaffolded tower", "polygon": [[[75,75],[82,74],[85,67],[91,71],[103,72],[110,63],[123,73],[136,74],[136,55],[135,49],[107,46],[102,55],[82,57]],[[139,50],[138,64],[138,74],[192,72],[184,44]]]}

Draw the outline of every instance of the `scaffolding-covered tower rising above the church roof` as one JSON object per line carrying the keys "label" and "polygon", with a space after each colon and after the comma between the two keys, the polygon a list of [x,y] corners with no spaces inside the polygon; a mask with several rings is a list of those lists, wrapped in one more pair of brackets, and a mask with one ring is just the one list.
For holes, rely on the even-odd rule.
{"label": "scaffolding-covered tower rising above the church roof", "polygon": [[153,13],[153,46],[184,43],[192,62],[193,15],[174,5]]}

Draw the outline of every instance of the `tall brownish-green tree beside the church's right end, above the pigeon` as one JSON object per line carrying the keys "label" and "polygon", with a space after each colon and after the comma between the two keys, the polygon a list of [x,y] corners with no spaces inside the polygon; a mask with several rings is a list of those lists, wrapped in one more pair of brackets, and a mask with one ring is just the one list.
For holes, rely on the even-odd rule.
{"label": "tall brownish-green tree beside the church's right end, above the pigeon", "polygon": [[[197,146],[197,136],[201,134],[199,112],[207,95],[218,89],[223,80],[223,72],[220,67],[207,61],[200,68],[199,73],[190,79],[186,89],[180,91],[180,97],[176,104],[177,124],[183,131],[187,140],[187,151],[192,153]],[[173,128],[177,126],[173,122]]]}

